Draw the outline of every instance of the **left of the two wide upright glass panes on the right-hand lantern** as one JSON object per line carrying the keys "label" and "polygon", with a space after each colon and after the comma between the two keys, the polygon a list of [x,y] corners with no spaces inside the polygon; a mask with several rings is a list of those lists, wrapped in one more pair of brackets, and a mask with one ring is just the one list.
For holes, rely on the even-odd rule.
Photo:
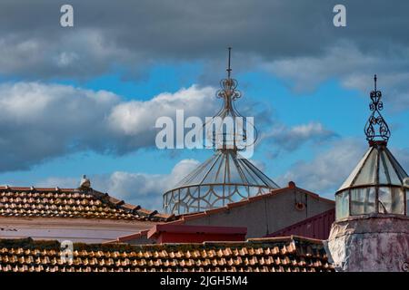
{"label": "left of the two wide upright glass panes on the right-hand lantern", "polygon": [[351,215],[364,215],[375,212],[375,189],[351,189]]}

